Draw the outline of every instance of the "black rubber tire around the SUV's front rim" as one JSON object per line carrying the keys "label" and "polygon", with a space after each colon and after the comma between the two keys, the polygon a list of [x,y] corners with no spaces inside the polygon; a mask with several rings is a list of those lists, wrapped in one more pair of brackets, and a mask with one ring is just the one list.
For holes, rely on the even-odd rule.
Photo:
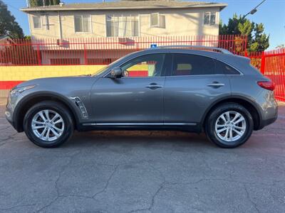
{"label": "black rubber tire around the SUV's front rim", "polygon": [[[41,138],[38,138],[35,133],[33,133],[32,129],[32,119],[33,116],[35,116],[39,111],[41,110],[52,110],[58,113],[61,118],[63,119],[63,132],[61,136],[59,136],[54,141],[43,141]],[[31,109],[28,109],[25,117],[24,117],[24,131],[26,133],[26,136],[37,146],[41,146],[43,148],[55,148],[58,146],[61,146],[64,142],[68,141],[69,138],[73,135],[73,119],[71,116],[71,112],[66,109],[66,107],[63,104],[60,104],[58,102],[52,102],[52,101],[44,101],[39,102],[38,104],[33,105]]]}

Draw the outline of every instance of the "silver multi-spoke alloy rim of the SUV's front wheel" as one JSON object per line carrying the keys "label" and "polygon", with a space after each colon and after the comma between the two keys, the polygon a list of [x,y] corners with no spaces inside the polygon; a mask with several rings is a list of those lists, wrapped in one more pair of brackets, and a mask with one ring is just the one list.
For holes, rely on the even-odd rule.
{"label": "silver multi-spoke alloy rim of the SUV's front wheel", "polygon": [[64,121],[60,114],[51,109],[38,111],[31,121],[35,136],[43,141],[55,141],[64,130]]}

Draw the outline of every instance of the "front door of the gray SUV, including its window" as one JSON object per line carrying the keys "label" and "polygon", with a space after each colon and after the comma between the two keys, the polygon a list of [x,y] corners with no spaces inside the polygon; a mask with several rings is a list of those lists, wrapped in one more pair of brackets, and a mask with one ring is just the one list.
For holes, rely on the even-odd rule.
{"label": "front door of the gray SUV, including its window", "polygon": [[165,54],[148,54],[121,65],[124,76],[100,78],[92,88],[96,124],[163,123]]}

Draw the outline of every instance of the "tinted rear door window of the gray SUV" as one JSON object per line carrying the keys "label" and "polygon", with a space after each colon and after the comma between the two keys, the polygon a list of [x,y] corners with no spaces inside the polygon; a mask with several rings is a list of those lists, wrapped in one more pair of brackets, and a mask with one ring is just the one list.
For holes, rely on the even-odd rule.
{"label": "tinted rear door window of the gray SUV", "polygon": [[173,55],[172,75],[214,75],[214,60],[201,55]]}

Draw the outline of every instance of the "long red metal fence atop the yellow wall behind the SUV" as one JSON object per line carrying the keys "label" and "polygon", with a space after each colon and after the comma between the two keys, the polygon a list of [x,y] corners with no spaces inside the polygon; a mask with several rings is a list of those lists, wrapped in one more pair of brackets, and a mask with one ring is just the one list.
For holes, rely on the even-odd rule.
{"label": "long red metal fence atop the yellow wall behind the SUV", "polygon": [[0,65],[107,65],[123,55],[157,45],[205,45],[242,55],[243,35],[156,36],[132,38],[66,38],[0,44]]}

